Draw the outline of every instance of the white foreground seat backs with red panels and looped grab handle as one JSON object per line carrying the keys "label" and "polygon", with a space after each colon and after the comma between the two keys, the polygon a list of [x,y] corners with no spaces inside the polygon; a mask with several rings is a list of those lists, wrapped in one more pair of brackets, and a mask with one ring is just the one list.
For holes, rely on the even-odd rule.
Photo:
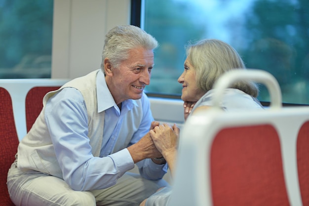
{"label": "white foreground seat backs with red panels and looped grab handle", "polygon": [[255,72],[227,74],[216,88],[243,77],[264,81],[270,108],[224,112],[219,91],[214,108],[188,118],[168,206],[308,205],[309,107],[282,108],[278,84]]}

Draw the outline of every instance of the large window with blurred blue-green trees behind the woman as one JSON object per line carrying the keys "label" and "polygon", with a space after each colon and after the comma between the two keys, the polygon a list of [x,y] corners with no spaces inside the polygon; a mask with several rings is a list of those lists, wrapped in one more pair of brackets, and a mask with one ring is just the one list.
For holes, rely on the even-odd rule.
{"label": "large window with blurred blue-green trees behind the woman", "polygon": [[[309,0],[142,0],[141,28],[160,46],[148,93],[180,95],[185,45],[231,44],[246,67],[270,72],[284,103],[309,104]],[[270,101],[260,86],[261,101]]]}

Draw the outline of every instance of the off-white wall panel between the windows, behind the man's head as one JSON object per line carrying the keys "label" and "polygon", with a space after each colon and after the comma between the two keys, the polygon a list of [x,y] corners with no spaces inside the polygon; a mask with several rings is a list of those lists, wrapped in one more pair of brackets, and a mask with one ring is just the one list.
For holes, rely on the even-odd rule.
{"label": "off-white wall panel between the windows, behind the man's head", "polygon": [[54,0],[52,78],[100,68],[107,31],[129,16],[130,0]]}

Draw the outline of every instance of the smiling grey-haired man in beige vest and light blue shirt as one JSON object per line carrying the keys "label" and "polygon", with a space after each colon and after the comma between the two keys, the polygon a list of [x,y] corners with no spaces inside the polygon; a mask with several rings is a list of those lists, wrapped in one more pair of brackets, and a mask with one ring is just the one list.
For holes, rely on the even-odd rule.
{"label": "smiling grey-haired man in beige vest and light blue shirt", "polygon": [[[138,27],[108,32],[101,69],[43,99],[7,178],[15,205],[138,206],[159,187],[166,162],[150,137],[157,41]],[[137,163],[140,175],[127,172]]]}

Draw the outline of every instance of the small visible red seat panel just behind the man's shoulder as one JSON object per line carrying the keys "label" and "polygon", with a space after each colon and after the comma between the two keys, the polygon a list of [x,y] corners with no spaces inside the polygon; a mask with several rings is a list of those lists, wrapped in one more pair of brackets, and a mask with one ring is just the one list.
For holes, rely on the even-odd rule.
{"label": "small visible red seat panel just behind the man's shoulder", "polygon": [[60,86],[36,86],[28,91],[25,102],[27,132],[31,129],[43,108],[42,100],[44,95],[59,88]]}

